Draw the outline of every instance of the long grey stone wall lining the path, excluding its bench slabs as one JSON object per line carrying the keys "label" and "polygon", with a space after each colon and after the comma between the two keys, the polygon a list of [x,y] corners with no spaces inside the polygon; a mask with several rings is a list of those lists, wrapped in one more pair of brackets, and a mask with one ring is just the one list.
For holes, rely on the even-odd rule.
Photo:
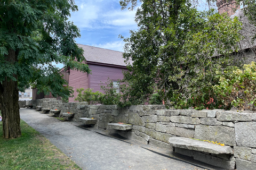
{"label": "long grey stone wall lining the path, excluding its bench slabs", "polygon": [[[256,113],[239,113],[223,110],[175,110],[164,105],[137,105],[120,108],[117,105],[87,105],[62,103],[56,99],[30,101],[34,107],[59,109],[61,113],[75,113],[80,117],[94,117],[94,128],[106,130],[108,123],[132,124],[131,131],[118,131],[126,138],[145,144],[174,150],[196,160],[226,169],[256,169]],[[60,113],[60,116],[61,116]],[[169,145],[171,137],[186,137],[218,141],[230,146],[234,155],[214,155]]]}

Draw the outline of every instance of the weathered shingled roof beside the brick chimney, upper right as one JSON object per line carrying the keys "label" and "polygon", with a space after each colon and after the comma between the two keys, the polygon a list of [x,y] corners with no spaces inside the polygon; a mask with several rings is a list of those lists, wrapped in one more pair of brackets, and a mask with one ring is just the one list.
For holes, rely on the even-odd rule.
{"label": "weathered shingled roof beside the brick chimney, upper right", "polygon": [[241,49],[252,48],[256,46],[256,40],[252,41],[253,36],[256,35],[256,27],[253,24],[250,24],[249,20],[244,16],[243,8],[236,11],[234,15],[231,15],[231,18],[235,16],[238,17],[239,21],[242,22],[243,27],[241,30],[241,35],[244,39],[240,42]]}

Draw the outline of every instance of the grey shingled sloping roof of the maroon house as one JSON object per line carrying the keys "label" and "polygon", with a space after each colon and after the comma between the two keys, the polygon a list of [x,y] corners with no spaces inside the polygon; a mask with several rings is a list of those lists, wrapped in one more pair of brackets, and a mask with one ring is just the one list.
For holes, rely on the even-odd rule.
{"label": "grey shingled sloping roof of the maroon house", "polygon": [[82,44],[77,45],[83,48],[84,57],[87,62],[126,66],[122,52]]}

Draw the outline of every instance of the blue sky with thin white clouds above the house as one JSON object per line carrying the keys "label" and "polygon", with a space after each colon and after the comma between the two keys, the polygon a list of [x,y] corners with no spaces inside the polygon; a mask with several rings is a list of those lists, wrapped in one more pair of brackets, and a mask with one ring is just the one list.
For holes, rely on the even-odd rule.
{"label": "blue sky with thin white clouds above the house", "polygon": [[138,29],[134,21],[136,9],[121,10],[119,0],[75,0],[75,4],[78,11],[71,12],[69,21],[80,29],[81,37],[75,39],[76,43],[124,52],[125,43],[119,35],[127,38],[130,30]]}

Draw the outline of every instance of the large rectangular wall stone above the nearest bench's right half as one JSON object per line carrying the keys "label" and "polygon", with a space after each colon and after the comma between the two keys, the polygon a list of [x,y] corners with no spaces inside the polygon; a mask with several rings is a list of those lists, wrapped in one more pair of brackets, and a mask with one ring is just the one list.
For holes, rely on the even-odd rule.
{"label": "large rectangular wall stone above the nearest bench's right half", "polygon": [[227,126],[197,125],[194,138],[236,146],[235,129]]}

